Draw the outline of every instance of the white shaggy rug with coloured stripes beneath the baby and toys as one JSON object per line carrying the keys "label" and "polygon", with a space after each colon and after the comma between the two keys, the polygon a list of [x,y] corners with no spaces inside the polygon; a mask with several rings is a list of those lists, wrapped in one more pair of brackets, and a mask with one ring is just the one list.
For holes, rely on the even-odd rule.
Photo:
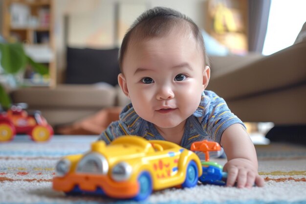
{"label": "white shaggy rug with coloured stripes beneath the baby and toys", "polygon": [[[69,154],[84,153],[97,136],[54,136],[34,143],[27,136],[0,144],[0,204],[135,204],[96,196],[66,197],[51,188],[54,166]],[[238,189],[199,184],[154,192],[141,204],[306,204],[306,147],[256,146],[264,187]],[[225,159],[214,159],[220,164]]]}

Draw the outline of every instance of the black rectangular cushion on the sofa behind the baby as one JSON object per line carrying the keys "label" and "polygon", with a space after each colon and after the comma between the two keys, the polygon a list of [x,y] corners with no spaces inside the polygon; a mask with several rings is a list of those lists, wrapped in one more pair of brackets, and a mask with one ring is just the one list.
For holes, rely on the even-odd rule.
{"label": "black rectangular cushion on the sofa behind the baby", "polygon": [[93,84],[106,82],[118,84],[120,72],[118,48],[90,49],[67,47],[67,84]]}

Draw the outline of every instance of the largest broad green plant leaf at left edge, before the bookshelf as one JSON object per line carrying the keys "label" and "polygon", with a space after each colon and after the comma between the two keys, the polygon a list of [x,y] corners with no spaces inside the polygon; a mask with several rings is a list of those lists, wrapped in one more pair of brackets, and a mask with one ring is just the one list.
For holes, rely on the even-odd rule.
{"label": "largest broad green plant leaf at left edge, before the bookshelf", "polygon": [[16,74],[23,70],[27,64],[26,55],[21,43],[1,44],[1,67],[6,73]]}

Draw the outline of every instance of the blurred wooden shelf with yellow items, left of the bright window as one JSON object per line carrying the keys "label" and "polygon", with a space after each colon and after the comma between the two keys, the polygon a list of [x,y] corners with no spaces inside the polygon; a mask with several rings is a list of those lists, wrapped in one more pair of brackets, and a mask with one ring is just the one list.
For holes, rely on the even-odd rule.
{"label": "blurred wooden shelf with yellow items, left of the bright window", "polygon": [[234,54],[248,51],[248,1],[207,0],[205,30]]}

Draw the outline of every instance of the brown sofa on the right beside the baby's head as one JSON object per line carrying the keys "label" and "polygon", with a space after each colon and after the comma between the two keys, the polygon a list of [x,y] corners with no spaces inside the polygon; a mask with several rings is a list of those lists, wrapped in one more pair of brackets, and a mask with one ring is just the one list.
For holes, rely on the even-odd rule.
{"label": "brown sofa on the right beside the baby's head", "polygon": [[207,89],[243,121],[306,125],[306,42],[248,64],[213,69]]}

